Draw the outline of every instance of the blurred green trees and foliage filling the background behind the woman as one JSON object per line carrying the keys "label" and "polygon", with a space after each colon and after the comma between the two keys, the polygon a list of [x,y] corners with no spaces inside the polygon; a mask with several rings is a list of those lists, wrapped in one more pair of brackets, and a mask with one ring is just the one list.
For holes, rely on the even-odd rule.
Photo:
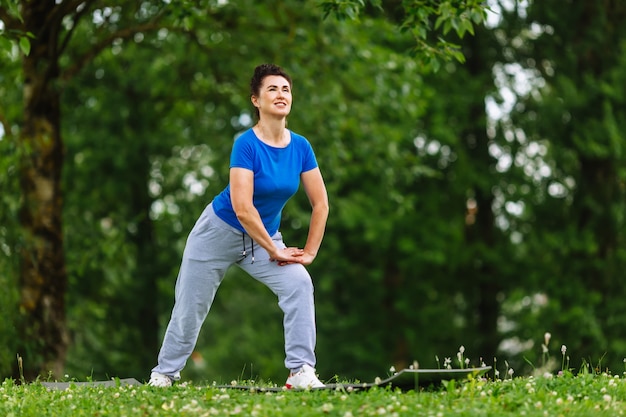
{"label": "blurred green trees and foliage filling the background behind the woman", "polygon": [[[331,202],[322,379],[460,346],[517,375],[560,369],[562,345],[572,368],[624,366],[626,5],[56,3],[0,2],[1,376],[147,378],[263,62],[294,79],[289,127]],[[289,244],[308,210],[286,207]],[[283,356],[276,300],[232,269],[183,378],[281,383]]]}

